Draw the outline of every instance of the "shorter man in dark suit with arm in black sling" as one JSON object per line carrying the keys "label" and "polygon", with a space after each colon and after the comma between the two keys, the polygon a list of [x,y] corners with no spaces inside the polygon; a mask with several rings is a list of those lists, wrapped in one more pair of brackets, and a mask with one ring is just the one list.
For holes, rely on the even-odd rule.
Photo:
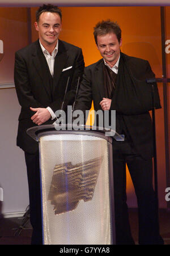
{"label": "shorter man in dark suit with arm in black sling", "polygon": [[[116,244],[134,244],[126,204],[126,163],[138,200],[139,244],[163,244],[152,186],[152,88],[146,83],[154,73],[148,61],[121,53],[117,23],[97,23],[94,36],[103,58],[85,68],[76,110],[89,110],[92,100],[96,111],[116,110],[116,131],[125,135],[124,141],[113,139]],[[154,91],[155,107],[160,108],[156,83]]]}

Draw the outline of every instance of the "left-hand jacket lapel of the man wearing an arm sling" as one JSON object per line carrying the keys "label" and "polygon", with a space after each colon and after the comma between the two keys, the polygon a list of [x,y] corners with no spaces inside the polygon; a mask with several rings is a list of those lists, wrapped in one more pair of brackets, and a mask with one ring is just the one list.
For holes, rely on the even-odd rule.
{"label": "left-hand jacket lapel of the man wearing an arm sling", "polygon": [[95,69],[95,86],[96,91],[99,91],[101,100],[105,97],[103,64],[103,59],[99,60]]}

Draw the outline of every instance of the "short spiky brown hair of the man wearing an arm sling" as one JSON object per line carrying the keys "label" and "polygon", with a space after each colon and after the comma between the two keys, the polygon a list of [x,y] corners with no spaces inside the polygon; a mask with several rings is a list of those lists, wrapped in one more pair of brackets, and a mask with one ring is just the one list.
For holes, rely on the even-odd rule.
{"label": "short spiky brown hair of the man wearing an arm sling", "polygon": [[121,28],[117,22],[113,22],[112,20],[102,20],[98,22],[94,27],[94,37],[95,42],[97,44],[97,36],[106,35],[107,33],[115,33],[117,36],[118,42],[121,40]]}

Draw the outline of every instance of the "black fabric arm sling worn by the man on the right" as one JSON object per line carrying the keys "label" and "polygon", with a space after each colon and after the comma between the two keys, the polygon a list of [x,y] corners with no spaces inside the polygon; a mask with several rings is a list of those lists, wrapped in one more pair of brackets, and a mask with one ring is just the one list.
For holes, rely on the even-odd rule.
{"label": "black fabric arm sling worn by the man on the right", "polygon": [[[153,77],[153,73],[146,75],[148,78]],[[123,53],[120,56],[116,87],[112,99],[111,108],[120,114],[137,115],[152,109],[151,85],[146,83],[145,79],[138,80],[133,76]],[[157,90],[155,90],[154,103],[156,108],[160,108]]]}

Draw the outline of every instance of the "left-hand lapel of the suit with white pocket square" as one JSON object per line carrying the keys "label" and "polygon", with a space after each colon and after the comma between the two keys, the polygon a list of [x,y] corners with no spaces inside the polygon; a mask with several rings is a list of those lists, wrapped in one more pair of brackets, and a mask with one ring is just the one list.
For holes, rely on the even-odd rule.
{"label": "left-hand lapel of the suit with white pocket square", "polygon": [[32,53],[32,60],[37,73],[40,75],[42,85],[45,87],[46,93],[51,98],[50,85],[49,85],[49,68],[45,60],[45,56],[40,48],[39,41],[37,41],[36,47]]}

